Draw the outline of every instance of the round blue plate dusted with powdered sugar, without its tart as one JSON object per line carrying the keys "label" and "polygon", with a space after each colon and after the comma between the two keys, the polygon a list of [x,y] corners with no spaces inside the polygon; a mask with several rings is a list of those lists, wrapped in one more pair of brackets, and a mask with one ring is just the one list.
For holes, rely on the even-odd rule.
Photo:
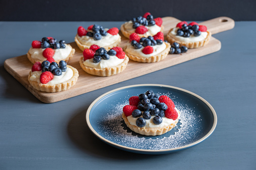
{"label": "round blue plate dusted with powdered sugar, without its tart", "polygon": [[[152,90],[167,95],[181,111],[175,128],[158,136],[145,136],[131,131],[122,119],[122,108],[131,96]],[[98,97],[87,111],[87,124],[104,142],[126,151],[144,154],[177,152],[195,146],[214,131],[217,115],[202,97],[178,87],[159,84],[126,86]]]}

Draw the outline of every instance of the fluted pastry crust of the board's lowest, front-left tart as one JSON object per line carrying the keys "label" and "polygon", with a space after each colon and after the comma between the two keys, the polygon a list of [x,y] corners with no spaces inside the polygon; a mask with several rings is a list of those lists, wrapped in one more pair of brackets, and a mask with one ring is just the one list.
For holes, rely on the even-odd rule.
{"label": "fluted pastry crust of the board's lowest, front-left tart", "polygon": [[67,67],[72,69],[73,76],[69,80],[67,80],[63,83],[49,85],[49,84],[38,83],[36,81],[31,81],[30,77],[31,77],[32,71],[30,71],[29,76],[28,76],[29,83],[35,89],[37,89],[39,91],[43,91],[43,92],[48,92],[48,93],[54,93],[54,92],[60,92],[60,91],[68,90],[68,89],[70,89],[70,87],[72,87],[76,83],[79,74],[78,74],[78,71],[74,67],[71,67],[71,66],[68,66],[68,65],[67,65]]}

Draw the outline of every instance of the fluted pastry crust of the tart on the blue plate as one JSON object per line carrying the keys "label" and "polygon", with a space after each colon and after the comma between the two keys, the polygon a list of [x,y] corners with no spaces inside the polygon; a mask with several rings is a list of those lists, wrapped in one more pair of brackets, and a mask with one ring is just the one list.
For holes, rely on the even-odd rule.
{"label": "fluted pastry crust of the tart on the blue plate", "polygon": [[156,135],[164,134],[164,133],[172,130],[172,128],[174,128],[176,126],[176,124],[179,122],[179,119],[176,119],[176,121],[174,123],[172,123],[168,126],[165,126],[165,127],[145,128],[145,127],[138,127],[138,126],[130,124],[130,122],[128,121],[128,119],[124,113],[122,113],[122,118],[124,119],[125,124],[132,131],[139,133],[139,134],[146,135],[146,136],[156,136]]}

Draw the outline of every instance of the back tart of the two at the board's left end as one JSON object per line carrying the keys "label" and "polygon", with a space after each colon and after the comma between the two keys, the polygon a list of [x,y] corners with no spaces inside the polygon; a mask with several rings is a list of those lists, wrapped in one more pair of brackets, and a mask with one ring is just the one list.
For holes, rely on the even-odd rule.
{"label": "back tart of the two at the board's left end", "polygon": [[[51,49],[50,54],[44,52]],[[64,40],[59,42],[52,37],[44,37],[41,41],[33,41],[32,47],[27,53],[28,59],[31,63],[40,62],[45,60],[60,62],[61,60],[68,62],[74,55],[75,50],[69,45],[65,44]]]}

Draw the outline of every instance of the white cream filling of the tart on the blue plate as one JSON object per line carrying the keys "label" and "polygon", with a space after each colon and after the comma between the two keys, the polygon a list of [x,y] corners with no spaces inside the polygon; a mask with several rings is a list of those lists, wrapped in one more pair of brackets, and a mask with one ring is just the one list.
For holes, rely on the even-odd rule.
{"label": "white cream filling of the tart on the blue plate", "polygon": [[[177,111],[178,114],[179,114],[179,116],[178,116],[178,118],[177,118],[177,119],[179,119],[180,116],[181,116],[181,112],[180,112],[177,108],[175,108],[175,109],[176,109],[176,111]],[[142,111],[142,113],[143,113],[143,111]],[[143,118],[142,115],[141,115],[140,117]],[[161,124],[154,124],[154,123],[153,123],[153,118],[154,118],[154,117],[155,117],[155,116],[151,116],[150,119],[148,119],[148,120],[145,119],[145,120],[146,120],[146,125],[144,126],[145,128],[166,127],[166,126],[168,126],[168,125],[170,125],[170,124],[172,124],[172,123],[174,123],[174,122],[176,121],[176,120],[173,120],[173,119],[168,119],[168,118],[166,118],[166,117],[162,117],[162,123],[161,123]],[[131,125],[135,125],[135,126],[137,126],[137,124],[136,124],[137,118],[138,118],[138,117],[132,117],[132,115],[130,115],[130,116],[127,117],[129,123],[130,123]]]}

